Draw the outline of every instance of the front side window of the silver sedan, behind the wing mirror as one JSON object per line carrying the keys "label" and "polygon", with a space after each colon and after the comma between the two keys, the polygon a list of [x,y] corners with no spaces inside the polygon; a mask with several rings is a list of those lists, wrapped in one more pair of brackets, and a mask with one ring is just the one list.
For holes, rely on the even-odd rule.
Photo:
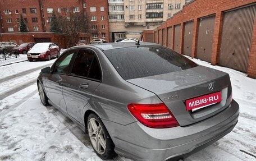
{"label": "front side window of the silver sedan, behind the wing mirror", "polygon": [[75,51],[70,51],[68,53],[65,53],[62,57],[60,57],[55,63],[53,72],[68,73],[69,65],[74,54]]}

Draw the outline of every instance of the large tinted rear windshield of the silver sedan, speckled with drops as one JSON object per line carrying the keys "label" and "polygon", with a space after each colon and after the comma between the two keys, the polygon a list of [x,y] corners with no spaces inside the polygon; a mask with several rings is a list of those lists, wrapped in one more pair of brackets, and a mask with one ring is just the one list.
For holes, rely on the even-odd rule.
{"label": "large tinted rear windshield of the silver sedan, speckled with drops", "polygon": [[105,50],[104,53],[125,80],[198,66],[181,54],[159,45]]}

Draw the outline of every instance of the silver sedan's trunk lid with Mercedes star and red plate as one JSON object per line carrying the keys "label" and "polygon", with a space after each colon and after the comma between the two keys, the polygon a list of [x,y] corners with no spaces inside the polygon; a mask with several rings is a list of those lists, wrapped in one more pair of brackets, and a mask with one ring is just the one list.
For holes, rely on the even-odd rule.
{"label": "silver sedan's trunk lid with Mercedes star and red plate", "polygon": [[228,74],[203,66],[127,81],[155,93],[180,126],[214,116],[232,99]]}

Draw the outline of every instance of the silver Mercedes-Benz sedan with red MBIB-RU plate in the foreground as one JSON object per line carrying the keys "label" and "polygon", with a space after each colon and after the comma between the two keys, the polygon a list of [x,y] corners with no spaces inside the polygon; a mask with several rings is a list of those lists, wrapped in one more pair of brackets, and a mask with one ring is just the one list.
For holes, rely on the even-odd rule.
{"label": "silver Mercedes-Benz sedan with red MBIB-RU plate in the foreground", "polygon": [[85,130],[102,159],[183,159],[232,131],[239,116],[227,73],[154,43],[69,48],[37,84],[42,103]]}

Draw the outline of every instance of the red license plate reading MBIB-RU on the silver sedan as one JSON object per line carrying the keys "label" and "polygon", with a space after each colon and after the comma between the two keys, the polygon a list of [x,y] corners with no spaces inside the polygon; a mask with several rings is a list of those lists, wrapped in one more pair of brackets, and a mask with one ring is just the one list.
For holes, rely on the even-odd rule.
{"label": "red license plate reading MBIB-RU on the silver sedan", "polygon": [[186,110],[196,111],[200,108],[204,108],[219,102],[221,102],[220,91],[186,100]]}

